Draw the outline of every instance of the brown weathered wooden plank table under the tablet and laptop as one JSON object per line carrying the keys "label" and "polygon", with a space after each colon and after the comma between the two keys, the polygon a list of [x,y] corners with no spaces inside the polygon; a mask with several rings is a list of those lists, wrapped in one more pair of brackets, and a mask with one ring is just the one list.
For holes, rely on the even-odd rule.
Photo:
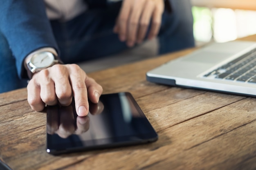
{"label": "brown weathered wooden plank table under the tablet and laptop", "polygon": [[[256,35],[244,40],[256,40]],[[146,81],[146,71],[193,50],[90,73],[104,93],[131,92],[159,134],[158,141],[49,155],[45,111],[31,110],[24,88],[0,94],[2,159],[13,170],[255,170],[255,98]]]}

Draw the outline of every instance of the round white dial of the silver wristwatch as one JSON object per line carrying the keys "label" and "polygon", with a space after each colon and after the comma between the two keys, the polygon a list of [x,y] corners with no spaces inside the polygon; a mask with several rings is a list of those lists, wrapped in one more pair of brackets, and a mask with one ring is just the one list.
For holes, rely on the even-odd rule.
{"label": "round white dial of the silver wristwatch", "polygon": [[42,52],[31,57],[30,63],[36,68],[47,68],[54,62],[54,55],[50,52]]}

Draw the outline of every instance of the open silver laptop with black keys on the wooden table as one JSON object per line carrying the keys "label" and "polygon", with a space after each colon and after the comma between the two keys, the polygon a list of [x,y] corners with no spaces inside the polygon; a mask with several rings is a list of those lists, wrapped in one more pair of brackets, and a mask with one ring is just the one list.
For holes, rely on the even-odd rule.
{"label": "open silver laptop with black keys on the wooden table", "polygon": [[213,42],[146,73],[149,82],[256,97],[256,42]]}

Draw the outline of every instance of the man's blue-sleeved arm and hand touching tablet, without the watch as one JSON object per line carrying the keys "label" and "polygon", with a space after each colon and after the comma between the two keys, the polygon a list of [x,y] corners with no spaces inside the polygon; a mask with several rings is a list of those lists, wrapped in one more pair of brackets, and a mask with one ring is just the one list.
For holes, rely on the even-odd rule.
{"label": "man's blue-sleeved arm and hand touching tablet, without the watch", "polygon": [[[0,29],[6,36],[16,58],[20,77],[27,77],[23,66],[25,57],[43,47],[58,50],[45,13],[43,0],[0,0]],[[41,111],[45,104],[64,106],[74,96],[76,112],[85,116],[89,111],[88,98],[99,101],[102,87],[76,64],[56,64],[35,73],[27,85],[28,102],[32,109]]]}

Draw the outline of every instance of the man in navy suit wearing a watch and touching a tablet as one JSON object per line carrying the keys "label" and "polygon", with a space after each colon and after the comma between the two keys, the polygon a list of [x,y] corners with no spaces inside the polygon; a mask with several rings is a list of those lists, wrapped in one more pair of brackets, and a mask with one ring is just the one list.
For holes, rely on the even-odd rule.
{"label": "man in navy suit wearing a watch and touching a tablet", "polygon": [[36,111],[67,106],[74,96],[77,114],[85,116],[88,98],[99,101],[102,87],[62,62],[111,55],[156,36],[159,54],[194,46],[189,0],[0,2],[0,92],[27,86]]}

